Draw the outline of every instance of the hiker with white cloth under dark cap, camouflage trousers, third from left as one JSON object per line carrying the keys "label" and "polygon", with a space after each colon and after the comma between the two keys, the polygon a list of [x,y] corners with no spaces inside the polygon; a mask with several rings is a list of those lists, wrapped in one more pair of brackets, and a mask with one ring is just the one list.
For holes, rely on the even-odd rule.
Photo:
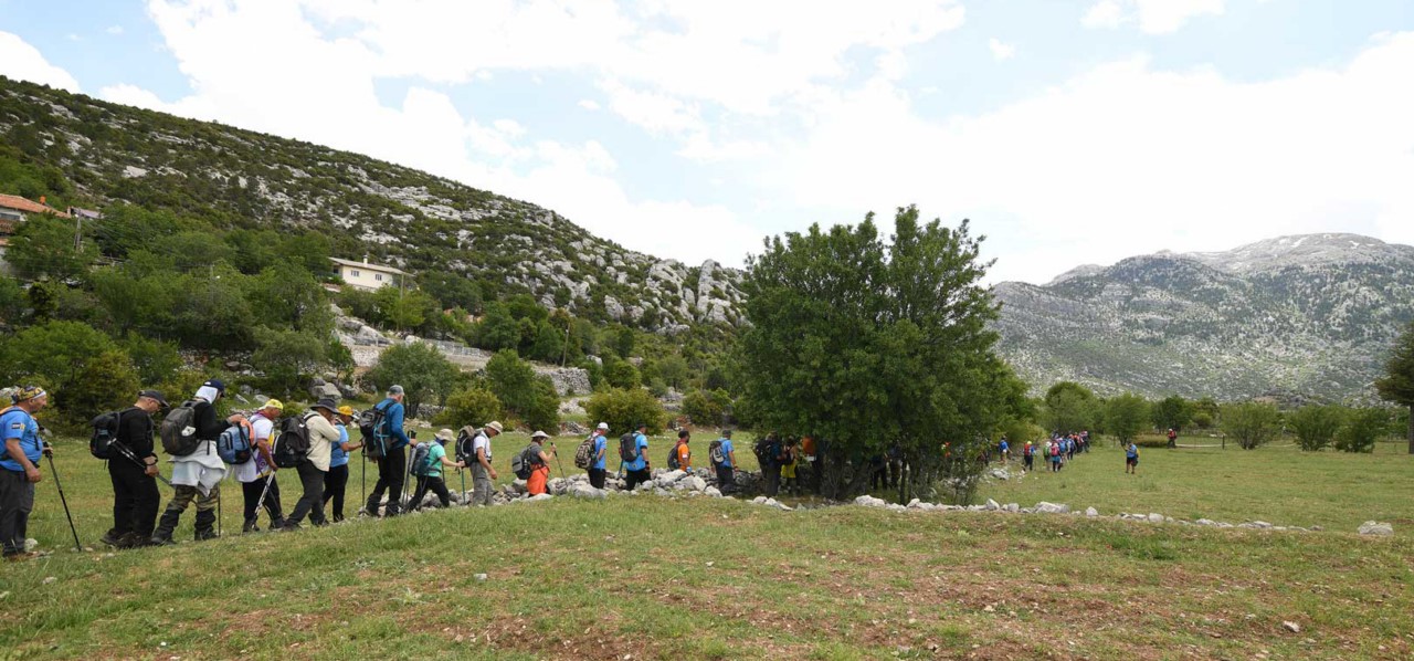
{"label": "hiker with white cloth under dark cap, camouflage trousers, third from left", "polygon": [[[177,409],[191,406],[191,426],[195,429],[192,436],[197,439],[197,449],[168,460],[173,463],[173,500],[167,502],[167,510],[163,511],[163,518],[157,522],[157,529],[153,531],[153,544],[173,544],[173,531],[181,521],[181,512],[185,512],[192,501],[197,502],[197,541],[216,538],[216,500],[221,498],[221,480],[226,477],[226,464],[216,453],[216,437],[230,425],[250,425],[240,413],[232,413],[225,420],[216,416],[216,401],[225,393],[226,384],[221,379],[211,379],[197,389],[197,395],[189,402]],[[167,418],[175,420],[177,410],[168,413]],[[167,420],[163,422],[167,423]]]}

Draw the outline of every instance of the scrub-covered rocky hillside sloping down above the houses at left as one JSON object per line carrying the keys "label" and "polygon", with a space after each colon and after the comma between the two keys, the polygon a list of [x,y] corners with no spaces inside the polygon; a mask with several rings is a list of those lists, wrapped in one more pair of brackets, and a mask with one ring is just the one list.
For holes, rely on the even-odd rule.
{"label": "scrub-covered rocky hillside sloping down above the houses at left", "polygon": [[71,202],[317,228],[344,258],[450,269],[488,297],[529,292],[546,307],[646,330],[738,321],[734,269],[628,251],[534,204],[348,151],[3,76],[0,137],[75,183]]}

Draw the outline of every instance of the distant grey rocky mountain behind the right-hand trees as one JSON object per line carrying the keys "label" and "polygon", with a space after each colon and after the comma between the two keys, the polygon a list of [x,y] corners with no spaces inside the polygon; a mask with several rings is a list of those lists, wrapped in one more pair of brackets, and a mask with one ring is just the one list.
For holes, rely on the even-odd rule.
{"label": "distant grey rocky mountain behind the right-hand trees", "polygon": [[1414,318],[1414,248],[1350,234],[1161,252],[1001,283],[1001,352],[1036,389],[1365,399]]}

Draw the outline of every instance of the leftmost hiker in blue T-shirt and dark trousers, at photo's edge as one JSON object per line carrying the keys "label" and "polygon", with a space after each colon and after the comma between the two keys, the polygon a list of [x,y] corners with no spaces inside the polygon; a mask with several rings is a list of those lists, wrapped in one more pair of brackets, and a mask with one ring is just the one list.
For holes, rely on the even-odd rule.
{"label": "leftmost hiker in blue T-shirt and dark trousers, at photo's edge", "polygon": [[0,459],[0,542],[4,544],[7,561],[27,561],[40,553],[24,549],[28,535],[30,512],[34,510],[34,485],[44,480],[40,473],[40,454],[54,452],[40,437],[40,423],[34,413],[49,403],[44,388],[27,385],[11,395],[13,405],[0,413],[3,426],[4,459]]}

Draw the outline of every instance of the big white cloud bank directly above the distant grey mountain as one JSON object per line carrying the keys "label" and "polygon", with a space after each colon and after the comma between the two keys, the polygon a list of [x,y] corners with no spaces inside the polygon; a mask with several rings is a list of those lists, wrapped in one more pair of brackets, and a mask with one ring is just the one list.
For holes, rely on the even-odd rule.
{"label": "big white cloud bank directly above the distant grey mountain", "polygon": [[946,120],[875,81],[822,103],[817,129],[772,170],[788,173],[788,204],[970,215],[994,239],[1000,279],[1297,232],[1411,242],[1410,79],[1414,33],[1268,82],[1137,57]]}

